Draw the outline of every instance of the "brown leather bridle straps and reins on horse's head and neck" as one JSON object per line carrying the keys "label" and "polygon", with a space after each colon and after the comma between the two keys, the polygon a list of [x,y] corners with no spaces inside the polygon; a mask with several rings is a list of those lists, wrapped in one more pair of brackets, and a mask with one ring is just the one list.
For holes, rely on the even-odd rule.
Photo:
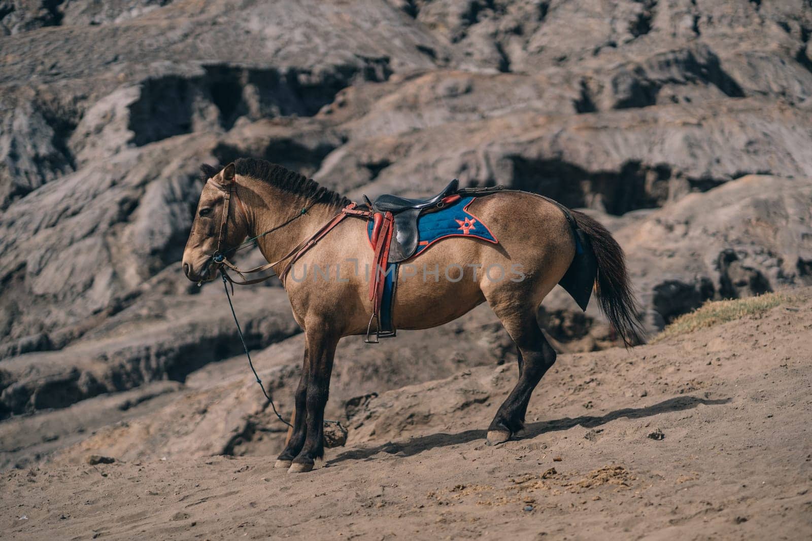
{"label": "brown leather bridle straps and reins on horse's head and neck", "polygon": [[[297,244],[296,247],[293,247],[293,249],[291,251],[288,251],[287,254],[281,259],[276,260],[273,263],[266,263],[258,267],[243,270],[241,268],[238,268],[235,264],[231,263],[231,261],[229,261],[228,258],[226,257],[225,252],[222,250],[222,239],[224,238],[227,229],[228,212],[229,207],[231,205],[231,194],[234,194],[234,198],[235,200],[237,200],[237,204],[240,205],[240,209],[242,210],[246,223],[248,222],[248,213],[245,212],[245,207],[243,205],[242,200],[240,200],[240,195],[237,194],[236,182],[232,182],[231,187],[229,188],[222,187],[217,182],[214,182],[214,186],[217,187],[218,190],[222,191],[224,195],[223,195],[222,220],[220,221],[220,234],[217,239],[217,251],[215,251],[214,254],[211,256],[211,264],[222,265],[227,268],[230,268],[232,271],[239,274],[240,277],[243,278],[243,281],[236,281],[232,279],[230,276],[228,276],[227,273],[223,273],[221,268],[220,273],[222,273],[222,276],[231,283],[232,285],[231,287],[234,287],[233,286],[234,284],[236,284],[237,286],[250,286],[252,284],[258,284],[261,281],[270,280],[270,278],[274,277],[274,274],[270,274],[265,277],[253,278],[250,280],[248,280],[245,277],[245,275],[261,273],[262,271],[268,270],[269,268],[273,269],[276,265],[282,263],[284,260],[288,260],[287,264],[285,264],[285,266],[282,268],[282,271],[275,274],[275,276],[279,276],[279,280],[284,282],[284,279],[287,276],[287,273],[290,271],[293,264],[296,263],[296,261],[299,260],[300,257],[304,255],[305,252],[307,252],[310,248],[314,247],[318,243],[318,241],[320,241],[326,234],[330,232],[330,230],[332,230],[336,225],[339,225],[339,223],[341,223],[341,221],[343,221],[344,218],[348,216],[355,216],[366,218],[367,220],[369,220],[372,219],[374,215],[374,213],[372,213],[371,211],[357,209],[355,203],[348,204],[346,207],[342,208],[341,211],[335,215],[335,217],[330,219],[330,221],[327,221],[325,225],[322,225],[322,227],[319,228],[319,230],[317,230],[316,233],[311,235],[309,238],[304,239],[304,241],[302,241],[301,243]],[[314,204],[315,203],[309,204],[309,206],[302,208],[300,212],[296,214],[296,216],[290,218],[287,221],[284,221],[282,224],[277,225],[270,230],[265,231],[264,233],[258,234],[256,237],[249,238],[239,247],[226,250],[226,252],[239,251],[244,247],[250,246],[250,244],[253,243],[253,241],[257,240],[257,238],[264,237],[266,234],[270,234],[276,230],[282,229],[285,225],[288,225],[292,223],[292,221],[295,221],[297,218],[304,216],[304,214],[306,214],[307,211],[309,211],[309,209],[312,208]],[[275,272],[275,269],[273,270]]]}

